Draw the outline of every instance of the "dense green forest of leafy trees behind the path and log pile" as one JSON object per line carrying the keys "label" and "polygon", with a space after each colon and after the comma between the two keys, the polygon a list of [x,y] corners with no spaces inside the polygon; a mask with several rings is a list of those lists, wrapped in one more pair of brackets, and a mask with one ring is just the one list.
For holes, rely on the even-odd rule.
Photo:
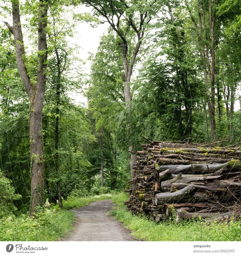
{"label": "dense green forest of leafy trees behind the path and log pile", "polygon": [[[146,138],[238,144],[240,8],[230,0],[2,1],[0,215],[128,188]],[[83,42],[71,43],[86,23],[89,33],[108,24],[87,60],[77,54]],[[79,93],[87,104],[76,103]]]}

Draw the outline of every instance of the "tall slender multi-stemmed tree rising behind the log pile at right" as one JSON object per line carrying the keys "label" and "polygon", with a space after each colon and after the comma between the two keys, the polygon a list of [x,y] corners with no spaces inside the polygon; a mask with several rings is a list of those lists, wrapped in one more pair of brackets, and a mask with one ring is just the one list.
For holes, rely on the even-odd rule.
{"label": "tall slender multi-stemmed tree rising behind the log pile at right", "polygon": [[[186,7],[196,30],[196,43],[199,49],[200,58],[203,63],[204,80],[206,84],[206,96],[208,103],[209,122],[211,127],[211,138],[216,137],[215,122],[215,14],[216,1],[210,0],[203,4],[202,0],[197,0],[194,8],[191,2],[186,1]],[[194,10],[194,13],[192,12]]]}

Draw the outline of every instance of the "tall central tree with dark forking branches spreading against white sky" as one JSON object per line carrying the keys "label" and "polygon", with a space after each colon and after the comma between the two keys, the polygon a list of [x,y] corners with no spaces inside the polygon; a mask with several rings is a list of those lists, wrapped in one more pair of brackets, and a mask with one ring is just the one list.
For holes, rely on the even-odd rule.
{"label": "tall central tree with dark forking branches spreading against white sky", "polygon": [[[110,27],[116,32],[117,37],[120,39],[119,47],[122,52],[125,72],[124,100],[125,108],[128,110],[131,108],[132,97],[130,81],[136,62],[136,56],[139,53],[144,38],[146,25],[151,21],[153,14],[155,15],[156,3],[158,1],[98,0],[80,2],[92,7],[96,16],[103,17],[105,22],[110,24]],[[128,124],[128,129],[130,128],[131,123]],[[135,150],[134,147],[134,143],[130,143],[129,152],[131,155],[130,168],[132,175],[132,166],[136,161],[136,154],[133,152]]]}

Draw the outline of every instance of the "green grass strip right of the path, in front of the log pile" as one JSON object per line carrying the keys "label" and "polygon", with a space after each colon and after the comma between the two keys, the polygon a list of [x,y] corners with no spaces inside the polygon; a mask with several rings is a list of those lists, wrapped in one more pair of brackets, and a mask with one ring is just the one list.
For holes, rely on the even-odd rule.
{"label": "green grass strip right of the path, in front of the log pile", "polygon": [[182,221],[174,223],[171,220],[155,223],[142,215],[132,215],[122,203],[127,200],[126,194],[113,197],[117,206],[109,212],[128,229],[132,235],[144,241],[241,241],[240,221],[230,223],[211,223],[201,221]]}

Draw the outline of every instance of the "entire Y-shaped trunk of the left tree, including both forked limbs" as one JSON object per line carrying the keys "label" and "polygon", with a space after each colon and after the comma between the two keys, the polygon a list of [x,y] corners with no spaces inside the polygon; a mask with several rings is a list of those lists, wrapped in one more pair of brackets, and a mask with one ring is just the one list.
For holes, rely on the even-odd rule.
{"label": "entire Y-shaped trunk of the left tree, including both forked limbs", "polygon": [[19,1],[12,0],[13,26],[7,22],[5,24],[14,36],[17,68],[20,73],[23,86],[30,98],[30,158],[31,158],[31,199],[30,215],[36,210],[37,206],[43,205],[44,188],[44,161],[42,144],[42,108],[46,84],[47,68],[47,7],[45,2],[39,1],[39,23],[38,23],[38,63],[37,63],[37,82],[34,85],[29,77],[24,60],[24,43],[22,27],[20,22]]}

